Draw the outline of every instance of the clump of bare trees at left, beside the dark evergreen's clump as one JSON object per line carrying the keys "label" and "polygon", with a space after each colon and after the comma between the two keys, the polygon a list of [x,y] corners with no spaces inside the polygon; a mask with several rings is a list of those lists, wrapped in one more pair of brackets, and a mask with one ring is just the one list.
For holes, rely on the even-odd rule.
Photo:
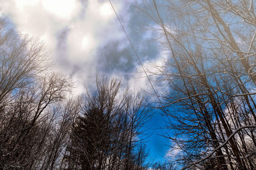
{"label": "clump of bare trees at left, beside the dark evergreen's clump", "polygon": [[44,45],[15,32],[4,17],[0,25],[0,167],[53,169],[67,143],[67,112],[76,112],[72,104],[69,111],[60,106],[72,82],[41,74],[49,66]]}

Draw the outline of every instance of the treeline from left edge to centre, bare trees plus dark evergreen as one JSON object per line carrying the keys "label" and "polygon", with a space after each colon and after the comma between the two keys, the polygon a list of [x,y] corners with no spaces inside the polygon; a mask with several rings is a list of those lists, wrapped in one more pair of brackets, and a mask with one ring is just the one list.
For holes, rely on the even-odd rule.
{"label": "treeline from left edge to centre, bare trees plus dark evergreen", "polygon": [[70,78],[47,67],[44,45],[1,17],[0,169],[146,169],[145,96],[100,76],[71,97]]}

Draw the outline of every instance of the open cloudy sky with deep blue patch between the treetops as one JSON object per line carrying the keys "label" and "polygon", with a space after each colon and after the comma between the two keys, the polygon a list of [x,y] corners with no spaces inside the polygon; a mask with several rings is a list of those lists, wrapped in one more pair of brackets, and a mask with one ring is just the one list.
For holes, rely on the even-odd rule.
{"label": "open cloudy sky with deep blue patch between the treetops", "polygon": [[[156,31],[148,30],[154,22],[142,13],[141,1],[112,0],[113,6],[131,38],[136,52],[148,69],[161,62]],[[0,0],[1,14],[15,29],[45,43],[54,70],[72,77],[75,94],[95,83],[95,75],[122,78],[133,89],[152,92],[140,63],[107,0]],[[151,71],[151,70],[150,70]],[[152,81],[154,81],[154,77]],[[157,92],[161,88],[155,86]],[[163,161],[171,153],[164,134],[164,120],[156,111],[145,133],[150,159]]]}

